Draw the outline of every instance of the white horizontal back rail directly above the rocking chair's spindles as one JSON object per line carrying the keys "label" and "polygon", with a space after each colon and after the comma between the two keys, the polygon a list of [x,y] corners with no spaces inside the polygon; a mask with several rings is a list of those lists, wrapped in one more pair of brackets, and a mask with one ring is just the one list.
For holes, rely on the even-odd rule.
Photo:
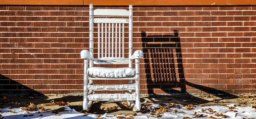
{"label": "white horizontal back rail directly above the rocking chair's spindles", "polygon": [[94,23],[129,23],[129,19],[121,19],[121,18],[94,18]]}

